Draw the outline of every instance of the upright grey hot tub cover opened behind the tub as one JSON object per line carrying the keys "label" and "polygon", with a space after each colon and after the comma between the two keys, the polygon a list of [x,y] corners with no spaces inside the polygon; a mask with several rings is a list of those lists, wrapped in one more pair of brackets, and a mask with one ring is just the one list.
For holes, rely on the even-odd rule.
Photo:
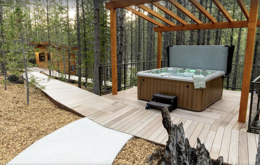
{"label": "upright grey hot tub cover opened behind the tub", "polygon": [[169,46],[168,67],[223,70],[228,76],[232,69],[235,46]]}

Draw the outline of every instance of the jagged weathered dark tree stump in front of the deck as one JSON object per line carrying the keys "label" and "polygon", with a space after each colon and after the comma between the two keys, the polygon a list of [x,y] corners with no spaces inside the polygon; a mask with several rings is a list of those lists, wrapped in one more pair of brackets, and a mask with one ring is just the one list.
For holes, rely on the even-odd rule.
{"label": "jagged weathered dark tree stump in front of the deck", "polygon": [[177,126],[172,124],[169,110],[162,109],[162,124],[168,132],[168,141],[165,148],[158,146],[149,155],[147,163],[157,160],[158,165],[221,165],[223,156],[216,161],[210,159],[209,151],[201,144],[199,138],[197,148],[192,148],[185,138],[182,122]]}

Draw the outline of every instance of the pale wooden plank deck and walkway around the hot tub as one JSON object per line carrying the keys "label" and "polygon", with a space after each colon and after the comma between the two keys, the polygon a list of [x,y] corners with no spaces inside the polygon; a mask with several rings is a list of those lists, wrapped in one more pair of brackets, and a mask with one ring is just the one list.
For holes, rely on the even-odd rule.
{"label": "pale wooden plank deck and walkway around the hot tub", "polygon": [[[38,72],[33,74],[47,77]],[[118,95],[98,96],[58,80],[42,81],[41,85],[47,85],[44,93],[63,109],[158,144],[165,145],[168,140],[160,110],[145,110],[146,101],[137,99],[137,88],[120,91]],[[202,112],[172,111],[172,122],[183,122],[190,145],[196,147],[199,137],[212,159],[223,156],[226,164],[254,164],[258,135],[246,132],[247,122],[237,122],[240,95],[241,92],[223,90],[223,97]]]}

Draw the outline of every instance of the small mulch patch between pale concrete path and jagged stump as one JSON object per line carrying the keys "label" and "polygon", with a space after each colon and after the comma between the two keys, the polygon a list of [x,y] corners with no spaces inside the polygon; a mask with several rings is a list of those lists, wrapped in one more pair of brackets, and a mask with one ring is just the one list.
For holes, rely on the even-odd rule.
{"label": "small mulch patch between pale concrete path and jagged stump", "polygon": [[[143,139],[134,138],[116,156],[113,165],[147,165],[148,155],[153,153],[156,145]],[[156,164],[157,162],[153,162]]]}

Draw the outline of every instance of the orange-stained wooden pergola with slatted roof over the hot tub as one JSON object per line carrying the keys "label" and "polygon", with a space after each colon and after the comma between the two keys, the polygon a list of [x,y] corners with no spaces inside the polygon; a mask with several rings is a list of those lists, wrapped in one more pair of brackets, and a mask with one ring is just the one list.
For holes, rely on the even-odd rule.
{"label": "orange-stained wooden pergola with slatted roof over the hot tub", "polygon": [[[217,22],[215,18],[197,1],[197,0],[188,0],[192,3],[203,15],[205,15],[211,23],[202,23],[197,17],[195,17],[191,12],[184,8],[176,0],[167,0],[178,10],[183,12],[186,16],[192,19],[195,24],[188,24],[183,19],[178,17],[172,11],[165,8],[159,3],[162,0],[110,0],[112,2],[106,3],[106,8],[110,10],[110,24],[111,24],[111,61],[112,61],[112,93],[117,94],[117,61],[116,61],[116,9],[125,8],[128,11],[133,12],[146,19],[147,21],[157,25],[154,27],[154,31],[158,32],[158,51],[157,51],[157,68],[161,67],[161,47],[162,47],[162,31],[181,31],[181,30],[204,30],[204,29],[226,29],[226,28],[248,28],[247,41],[246,41],[246,51],[245,51],[245,65],[244,65],[244,74],[243,74],[243,84],[242,84],[242,93],[240,100],[240,109],[239,109],[239,122],[246,121],[246,111],[248,106],[248,96],[250,88],[250,78],[252,71],[252,60],[254,54],[254,45],[255,45],[255,36],[256,36],[256,27],[260,27],[260,19],[257,20],[258,15],[258,6],[259,0],[251,0],[250,3],[250,14],[246,8],[243,0],[236,0],[240,6],[243,14],[246,17],[246,21],[234,21],[228,11],[224,8],[222,3],[219,0],[212,0],[212,2],[217,6],[220,12],[226,18],[226,22]],[[159,15],[155,11],[151,10],[144,4],[151,3],[156,6],[158,9],[162,10],[181,25],[176,25],[165,17]],[[130,6],[136,5],[139,8],[147,11],[154,17],[157,17],[161,21],[168,24],[164,26],[158,21],[142,14],[141,12],[133,9]]]}

